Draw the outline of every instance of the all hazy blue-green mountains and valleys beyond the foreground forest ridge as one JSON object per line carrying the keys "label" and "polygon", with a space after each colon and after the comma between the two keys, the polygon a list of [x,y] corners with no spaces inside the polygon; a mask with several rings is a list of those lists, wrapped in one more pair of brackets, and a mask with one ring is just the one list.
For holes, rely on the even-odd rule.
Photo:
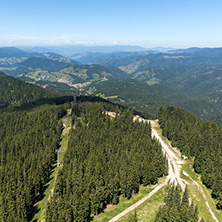
{"label": "all hazy blue-green mountains and valleys beyond the foreground forest ridge", "polygon": [[0,48],[0,70],[48,89],[98,95],[152,117],[160,105],[171,104],[221,121],[222,48],[125,49],[76,53],[70,48],[67,58]]}

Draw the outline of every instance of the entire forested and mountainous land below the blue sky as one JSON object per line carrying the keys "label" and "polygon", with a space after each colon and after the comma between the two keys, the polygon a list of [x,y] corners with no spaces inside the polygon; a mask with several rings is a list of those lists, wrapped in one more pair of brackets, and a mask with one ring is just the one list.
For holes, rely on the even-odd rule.
{"label": "entire forested and mountainous land below the blue sky", "polygon": [[6,51],[0,220],[222,220],[221,49]]}

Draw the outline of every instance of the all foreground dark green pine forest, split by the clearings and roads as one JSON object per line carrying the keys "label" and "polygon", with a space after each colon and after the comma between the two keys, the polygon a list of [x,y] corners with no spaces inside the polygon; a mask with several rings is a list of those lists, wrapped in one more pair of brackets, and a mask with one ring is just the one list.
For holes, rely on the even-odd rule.
{"label": "all foreground dark green pine forest, split by the clearings and roads", "polygon": [[[59,97],[3,73],[0,80],[0,221],[32,221],[38,212],[70,106],[68,149],[46,221],[93,220],[108,204],[118,204],[120,195],[130,199],[140,185],[156,184],[167,174],[167,160],[151,138],[151,126],[133,121],[136,111],[99,97]],[[172,145],[194,157],[195,171],[222,209],[222,126],[173,107],[161,107],[158,118]],[[170,185],[166,194],[157,222],[197,221],[187,190],[182,194]],[[131,219],[137,221],[136,213]]]}

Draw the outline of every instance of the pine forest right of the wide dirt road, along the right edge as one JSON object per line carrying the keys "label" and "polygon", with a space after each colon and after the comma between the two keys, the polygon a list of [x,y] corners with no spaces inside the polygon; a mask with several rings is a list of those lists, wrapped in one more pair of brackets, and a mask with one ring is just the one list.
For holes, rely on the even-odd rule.
{"label": "pine forest right of the wide dirt road, along the right edge", "polygon": [[212,189],[212,197],[222,209],[222,126],[203,121],[179,108],[159,109],[163,135],[188,157],[195,157],[194,169]]}

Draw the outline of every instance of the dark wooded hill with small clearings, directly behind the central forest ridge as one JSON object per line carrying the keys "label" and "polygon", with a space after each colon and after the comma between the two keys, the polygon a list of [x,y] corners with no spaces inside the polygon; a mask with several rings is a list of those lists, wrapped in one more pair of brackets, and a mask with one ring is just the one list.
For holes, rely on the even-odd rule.
{"label": "dark wooded hill with small clearings, directly behind the central forest ridge", "polygon": [[91,84],[86,88],[86,93],[130,107],[147,118],[155,118],[160,105],[186,100],[185,96],[164,85],[149,86],[133,79],[113,79]]}

